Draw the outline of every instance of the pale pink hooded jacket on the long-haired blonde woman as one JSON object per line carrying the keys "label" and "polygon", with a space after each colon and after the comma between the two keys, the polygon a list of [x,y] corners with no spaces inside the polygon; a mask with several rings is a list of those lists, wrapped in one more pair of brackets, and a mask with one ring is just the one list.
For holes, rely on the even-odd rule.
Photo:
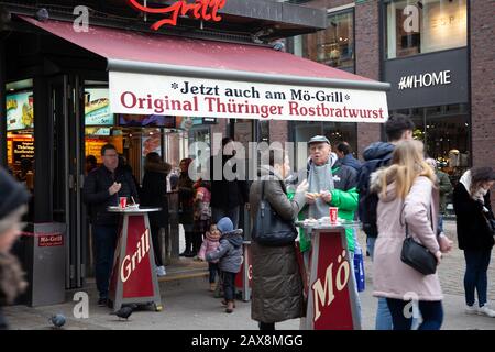
{"label": "pale pink hooded jacket on the long-haired blonde woman", "polygon": [[438,274],[422,275],[400,260],[406,238],[405,222],[415,241],[431,253],[439,251],[440,245],[433,231],[438,219],[438,190],[429,178],[419,176],[405,200],[396,196],[395,182],[387,185],[386,195],[383,196],[378,182],[382,173],[383,169],[373,173],[371,180],[372,190],[378,193],[380,197],[380,235],[373,261],[373,295],[406,300],[407,295],[415,293],[419,300],[441,300],[443,295]]}

